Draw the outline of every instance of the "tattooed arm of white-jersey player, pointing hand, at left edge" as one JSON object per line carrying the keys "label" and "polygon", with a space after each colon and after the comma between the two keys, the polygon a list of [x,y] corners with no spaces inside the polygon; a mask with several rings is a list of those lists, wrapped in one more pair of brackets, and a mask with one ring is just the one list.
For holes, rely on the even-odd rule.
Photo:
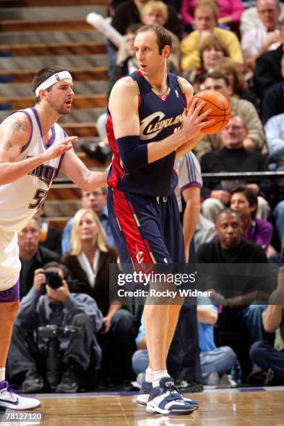
{"label": "tattooed arm of white-jersey player, pointing hand, at left edge", "polygon": [[19,161],[21,150],[29,142],[30,136],[31,123],[24,113],[14,113],[1,123],[0,184],[8,184],[22,178],[45,161],[59,157],[63,152],[70,150],[72,142],[77,141],[76,136],[66,137],[61,141],[56,141],[37,157]]}

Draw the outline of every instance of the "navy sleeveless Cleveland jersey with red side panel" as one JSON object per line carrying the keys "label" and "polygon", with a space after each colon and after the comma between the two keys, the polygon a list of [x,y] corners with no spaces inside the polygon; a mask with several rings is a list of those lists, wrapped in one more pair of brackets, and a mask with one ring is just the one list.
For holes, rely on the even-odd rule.
{"label": "navy sleeveless Cleveland jersey with red side panel", "polygon": [[[166,95],[159,95],[139,70],[132,72],[129,77],[136,82],[139,93],[140,143],[161,141],[178,132],[182,124],[182,113],[187,106],[178,77],[168,73]],[[173,194],[178,184],[178,175],[173,168],[175,152],[130,172],[120,158],[110,113],[107,116],[107,136],[113,150],[113,161],[108,176],[110,187],[144,196]]]}

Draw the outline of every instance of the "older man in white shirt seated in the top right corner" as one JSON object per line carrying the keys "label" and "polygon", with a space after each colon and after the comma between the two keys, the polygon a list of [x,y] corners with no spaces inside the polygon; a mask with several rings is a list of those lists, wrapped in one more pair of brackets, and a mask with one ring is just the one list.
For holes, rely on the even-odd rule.
{"label": "older man in white shirt seated in the top right corner", "polygon": [[242,37],[244,61],[252,69],[255,68],[255,60],[258,56],[268,50],[276,49],[282,40],[278,31],[278,19],[281,13],[278,0],[258,0],[256,7],[262,26],[246,31]]}

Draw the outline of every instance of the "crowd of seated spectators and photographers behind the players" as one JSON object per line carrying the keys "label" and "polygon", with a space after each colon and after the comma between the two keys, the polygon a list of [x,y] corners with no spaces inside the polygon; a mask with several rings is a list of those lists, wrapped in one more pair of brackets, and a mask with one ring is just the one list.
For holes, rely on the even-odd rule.
{"label": "crowd of seated spectators and photographers behind the players", "polygon": [[[189,262],[236,263],[244,270],[246,264],[247,275],[228,267],[225,278],[205,283],[211,299],[182,308],[180,323],[185,327],[178,326],[173,339],[169,370],[186,391],[203,385],[236,386],[239,381],[284,384],[283,271],[267,269],[269,262],[283,262],[284,180],[200,176],[200,168],[201,173],[284,170],[284,5],[277,0],[113,0],[111,15],[123,41],[119,48],[108,42],[109,91],[118,78],[138,68],[136,29],[159,24],[173,40],[168,70],[189,79],[195,91],[226,95],[232,107],[226,129],[206,135],[194,150],[191,166],[199,179],[180,184],[186,206],[183,225],[184,232],[193,234]],[[98,129],[107,143],[103,126]],[[194,190],[184,191],[189,187]],[[47,384],[56,392],[98,384],[123,387],[135,374],[139,383],[145,377],[148,354],[141,310],[111,302],[109,264],[116,264],[118,255],[105,189],[83,192],[81,205],[62,236],[48,227],[43,210],[19,232],[22,301],[8,374],[26,393],[42,391]],[[185,226],[189,212],[196,214],[196,229],[190,231]],[[257,287],[244,278],[253,274],[253,264],[265,268]],[[47,285],[46,270],[60,271],[57,290]],[[232,295],[232,289],[240,293]],[[60,378],[56,369],[47,377],[48,339],[37,336],[38,326],[47,324],[77,328],[61,340]],[[234,376],[240,369],[242,377]]]}

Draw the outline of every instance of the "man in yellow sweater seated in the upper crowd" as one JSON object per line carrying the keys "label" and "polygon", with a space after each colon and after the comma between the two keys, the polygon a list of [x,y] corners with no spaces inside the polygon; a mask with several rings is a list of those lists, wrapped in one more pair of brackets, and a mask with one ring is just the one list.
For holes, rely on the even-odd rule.
{"label": "man in yellow sweater seated in the upper crowd", "polygon": [[212,0],[198,2],[194,10],[196,30],[184,38],[180,44],[182,52],[182,70],[200,67],[198,45],[206,36],[214,35],[226,46],[228,54],[236,62],[243,63],[242,50],[237,36],[231,31],[217,27],[219,7]]}

